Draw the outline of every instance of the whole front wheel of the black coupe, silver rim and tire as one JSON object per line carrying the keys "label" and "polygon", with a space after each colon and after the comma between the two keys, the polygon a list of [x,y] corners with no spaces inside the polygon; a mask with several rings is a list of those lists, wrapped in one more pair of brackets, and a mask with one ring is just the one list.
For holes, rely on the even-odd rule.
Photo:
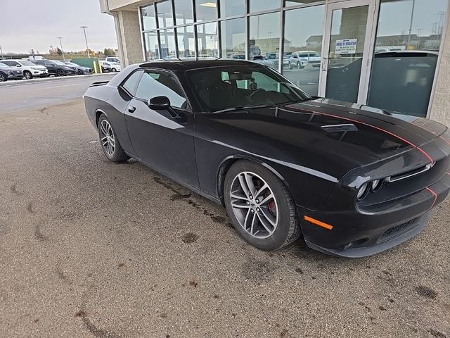
{"label": "whole front wheel of the black coupe, silver rim and tire", "polygon": [[224,199],[236,230],[259,249],[280,249],[300,236],[290,192],[274,173],[257,163],[238,161],[231,165]]}

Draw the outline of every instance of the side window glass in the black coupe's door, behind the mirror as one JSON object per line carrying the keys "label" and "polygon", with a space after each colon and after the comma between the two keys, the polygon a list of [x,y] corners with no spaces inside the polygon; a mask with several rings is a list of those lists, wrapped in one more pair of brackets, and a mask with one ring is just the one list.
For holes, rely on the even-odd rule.
{"label": "side window glass in the black coupe's door, behind the mirror", "polygon": [[167,96],[174,108],[186,108],[187,100],[174,75],[159,70],[143,73],[136,90],[136,97],[145,101],[155,96]]}

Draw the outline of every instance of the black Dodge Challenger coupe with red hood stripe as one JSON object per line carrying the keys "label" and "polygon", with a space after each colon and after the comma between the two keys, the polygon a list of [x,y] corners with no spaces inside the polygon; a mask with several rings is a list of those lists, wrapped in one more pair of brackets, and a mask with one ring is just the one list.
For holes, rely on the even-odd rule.
{"label": "black Dodge Challenger coupe with red hood stripe", "polygon": [[449,193],[447,127],[312,98],[258,63],[131,65],[84,99],[110,161],[136,158],[223,204],[260,249],[302,234],[372,255],[420,233]]}

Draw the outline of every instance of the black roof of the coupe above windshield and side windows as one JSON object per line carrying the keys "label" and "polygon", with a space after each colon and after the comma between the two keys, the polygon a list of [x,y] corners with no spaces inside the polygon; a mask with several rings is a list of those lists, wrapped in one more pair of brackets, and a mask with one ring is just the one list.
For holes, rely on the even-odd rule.
{"label": "black roof of the coupe above windshield and side windows", "polygon": [[214,58],[206,60],[157,60],[140,63],[140,68],[164,68],[167,70],[188,70],[209,67],[226,67],[236,65],[255,65],[252,61],[239,60],[236,58]]}

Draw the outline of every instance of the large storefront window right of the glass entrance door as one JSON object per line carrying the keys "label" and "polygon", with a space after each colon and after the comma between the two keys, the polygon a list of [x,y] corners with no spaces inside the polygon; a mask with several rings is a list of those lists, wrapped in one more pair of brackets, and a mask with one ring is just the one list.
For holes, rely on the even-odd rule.
{"label": "large storefront window right of the glass entrance door", "polygon": [[447,0],[382,0],[368,105],[426,116]]}

